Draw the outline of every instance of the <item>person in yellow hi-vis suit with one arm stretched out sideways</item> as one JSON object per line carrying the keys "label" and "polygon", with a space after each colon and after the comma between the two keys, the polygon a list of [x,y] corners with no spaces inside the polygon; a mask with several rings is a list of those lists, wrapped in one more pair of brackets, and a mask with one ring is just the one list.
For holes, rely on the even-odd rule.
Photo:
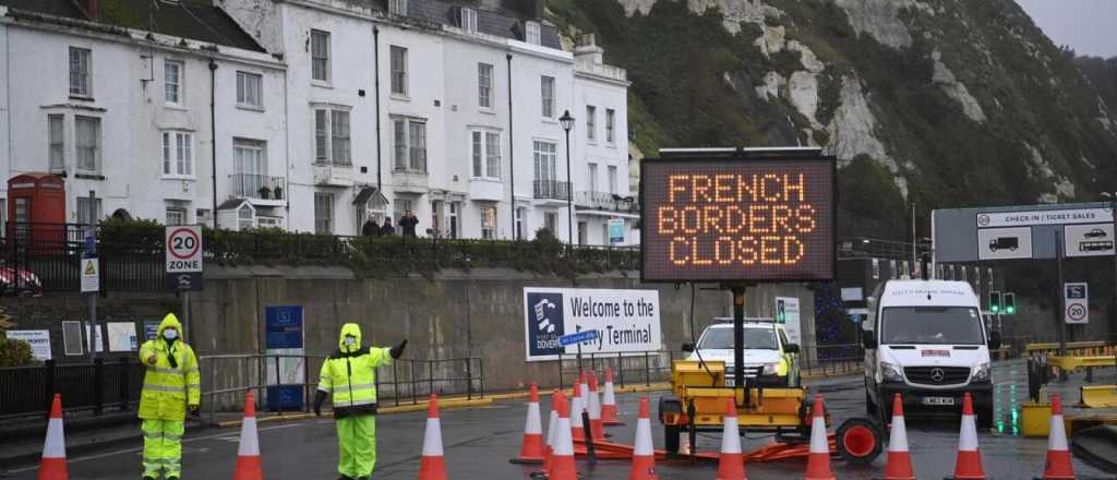
{"label": "person in yellow hi-vis suit with one arm stretched out sideways", "polygon": [[369,480],[376,467],[376,367],[391,365],[403,355],[404,339],[391,348],[361,346],[361,327],[342,326],[337,351],[322,363],[314,414],[333,394],[337,426],[337,472],[341,480]]}

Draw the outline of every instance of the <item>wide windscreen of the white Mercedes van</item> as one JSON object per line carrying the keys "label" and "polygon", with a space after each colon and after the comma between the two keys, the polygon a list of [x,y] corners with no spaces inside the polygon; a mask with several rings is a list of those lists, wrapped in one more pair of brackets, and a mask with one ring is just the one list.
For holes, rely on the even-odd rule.
{"label": "wide windscreen of the white Mercedes van", "polygon": [[887,307],[884,344],[981,345],[981,315],[970,307]]}

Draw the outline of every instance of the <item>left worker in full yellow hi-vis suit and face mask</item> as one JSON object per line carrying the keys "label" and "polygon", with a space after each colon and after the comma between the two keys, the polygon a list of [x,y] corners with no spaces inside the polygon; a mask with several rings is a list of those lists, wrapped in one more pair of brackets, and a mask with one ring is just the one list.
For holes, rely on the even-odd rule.
{"label": "left worker in full yellow hi-vis suit and face mask", "polygon": [[155,338],[140,346],[145,367],[140,394],[143,424],[143,479],[166,480],[182,477],[182,434],[187,410],[198,416],[201,403],[201,374],[193,348],[181,339],[182,324],[166,314]]}

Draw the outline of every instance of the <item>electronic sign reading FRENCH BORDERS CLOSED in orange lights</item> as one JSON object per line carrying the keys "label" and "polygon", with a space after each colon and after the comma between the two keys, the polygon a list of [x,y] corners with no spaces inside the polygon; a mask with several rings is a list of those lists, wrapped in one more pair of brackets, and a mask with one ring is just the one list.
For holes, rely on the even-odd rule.
{"label": "electronic sign reading FRENCH BORDERS CLOSED in orange lights", "polygon": [[646,161],[643,279],[832,279],[834,172],[828,157]]}

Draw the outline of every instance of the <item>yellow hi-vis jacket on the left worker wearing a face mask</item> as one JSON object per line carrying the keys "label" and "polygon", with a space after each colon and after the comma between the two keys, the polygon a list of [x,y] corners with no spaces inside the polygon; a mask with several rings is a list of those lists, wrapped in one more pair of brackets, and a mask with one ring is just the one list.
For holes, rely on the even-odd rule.
{"label": "yellow hi-vis jacket on the left worker wearing a face mask", "polygon": [[[143,392],[140,394],[140,417],[150,420],[185,420],[187,405],[201,403],[201,375],[194,351],[175,338],[170,345],[163,339],[163,330],[174,328],[182,335],[182,324],[174,314],[168,314],[159,324],[155,338],[140,346],[140,362],[146,368],[143,376]],[[155,355],[154,365],[147,358]],[[174,366],[170,356],[174,356]]]}

